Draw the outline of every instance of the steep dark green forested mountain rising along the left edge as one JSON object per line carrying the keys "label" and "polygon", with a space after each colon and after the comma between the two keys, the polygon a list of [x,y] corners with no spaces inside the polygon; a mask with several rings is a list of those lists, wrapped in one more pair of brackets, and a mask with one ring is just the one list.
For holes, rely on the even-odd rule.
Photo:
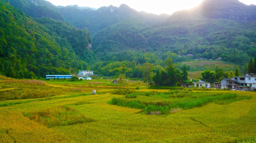
{"label": "steep dark green forested mountain rising along the left edge", "polygon": [[[79,60],[72,42],[61,32],[48,29],[22,11],[0,2],[0,74],[15,78],[45,77],[45,74],[70,74],[88,68]],[[35,18],[36,19],[36,18]],[[87,30],[76,29],[61,21],[51,21],[52,27],[73,33],[73,39],[90,41]],[[65,29],[65,30],[64,30]],[[67,40],[68,39],[68,40]],[[71,39],[72,40],[72,39]],[[80,44],[80,43],[79,43]],[[87,50],[86,50],[87,51]]]}

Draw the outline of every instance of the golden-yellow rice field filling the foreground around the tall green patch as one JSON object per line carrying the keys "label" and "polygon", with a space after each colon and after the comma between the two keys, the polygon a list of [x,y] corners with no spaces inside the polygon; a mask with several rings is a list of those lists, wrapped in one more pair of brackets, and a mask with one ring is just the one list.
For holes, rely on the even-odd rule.
{"label": "golden-yellow rice field filling the foreground around the tall green patch", "polygon": [[[211,102],[164,115],[142,114],[142,109],[108,104],[116,86],[94,87],[70,83],[31,85],[27,81],[0,82],[1,143],[255,143],[256,93],[202,91],[250,97],[229,104]],[[55,86],[56,85],[56,86]],[[40,88],[42,86],[42,88]],[[130,85],[131,87],[135,85]],[[137,85],[136,85],[137,86]],[[166,92],[161,89],[136,92]],[[17,90],[20,89],[20,90]],[[132,88],[134,90],[134,88]],[[11,94],[17,96],[12,98]],[[24,98],[21,91],[33,93]],[[34,92],[27,92],[34,91]],[[167,90],[168,91],[168,90]],[[35,93],[38,93],[38,98]],[[43,97],[43,94],[51,96]],[[25,95],[24,95],[25,96]],[[142,98],[142,97],[140,97]],[[138,98],[138,99],[140,99]],[[168,100],[168,99],[164,99]]]}

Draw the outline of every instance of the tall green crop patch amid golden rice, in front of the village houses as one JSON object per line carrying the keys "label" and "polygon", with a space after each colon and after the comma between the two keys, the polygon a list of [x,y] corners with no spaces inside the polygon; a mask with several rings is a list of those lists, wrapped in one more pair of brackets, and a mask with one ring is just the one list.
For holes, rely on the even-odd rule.
{"label": "tall green crop patch amid golden rice, in front of the village houses", "polygon": [[190,90],[175,90],[165,93],[130,93],[122,98],[112,98],[108,104],[143,109],[145,114],[169,114],[171,109],[191,109],[208,103],[230,104],[240,100],[252,99],[250,96],[238,96],[236,93],[210,93]]}

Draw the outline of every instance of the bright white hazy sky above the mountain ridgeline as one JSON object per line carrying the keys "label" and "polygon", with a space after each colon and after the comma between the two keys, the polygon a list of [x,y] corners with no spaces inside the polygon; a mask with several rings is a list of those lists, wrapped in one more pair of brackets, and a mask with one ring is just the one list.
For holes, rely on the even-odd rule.
{"label": "bright white hazy sky above the mountain ridgeline", "polygon": [[[144,11],[153,14],[172,14],[178,10],[189,9],[200,4],[203,0],[47,0],[55,6],[89,6],[91,8],[100,8],[102,6],[117,6],[126,4],[137,11]],[[250,5],[255,4],[256,0],[239,0]]]}

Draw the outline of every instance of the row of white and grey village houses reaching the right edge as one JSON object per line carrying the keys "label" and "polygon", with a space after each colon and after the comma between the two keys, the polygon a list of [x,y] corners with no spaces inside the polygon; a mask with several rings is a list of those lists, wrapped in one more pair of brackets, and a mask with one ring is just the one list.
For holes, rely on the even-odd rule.
{"label": "row of white and grey village houses reaching the right edge", "polygon": [[183,83],[179,86],[193,88],[193,87],[206,87],[206,88],[217,88],[217,89],[233,89],[233,90],[246,90],[252,91],[256,89],[256,73],[244,73],[244,76],[223,78],[221,82],[205,82],[199,80],[194,83]]}

